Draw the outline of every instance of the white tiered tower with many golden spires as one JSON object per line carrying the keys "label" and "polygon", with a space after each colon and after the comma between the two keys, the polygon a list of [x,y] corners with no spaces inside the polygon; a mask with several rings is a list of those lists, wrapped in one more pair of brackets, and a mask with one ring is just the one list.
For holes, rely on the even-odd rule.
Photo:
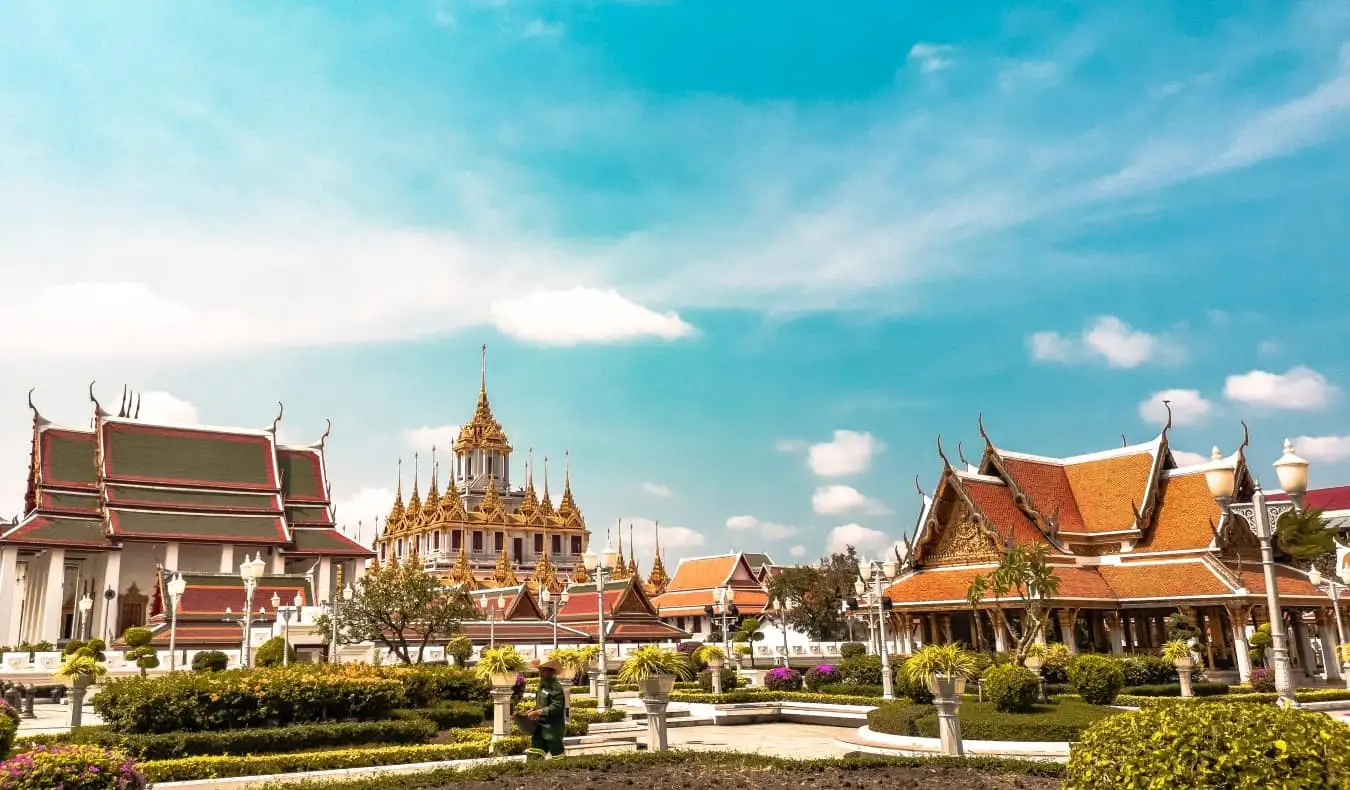
{"label": "white tiered tower with many golden spires", "polygon": [[[404,505],[400,478],[400,494],[377,540],[379,560],[420,562],[447,585],[481,589],[529,583],[556,593],[582,566],[590,543],[572,496],[571,463],[564,460],[556,509],[548,490],[547,456],[541,494],[535,490],[533,450],[525,485],[513,486],[510,440],[487,398],[487,346],[482,354],[478,404],[451,447],[444,490],[433,463],[427,501],[417,498],[420,481],[414,471],[413,498]],[[432,452],[435,458],[435,448]]]}

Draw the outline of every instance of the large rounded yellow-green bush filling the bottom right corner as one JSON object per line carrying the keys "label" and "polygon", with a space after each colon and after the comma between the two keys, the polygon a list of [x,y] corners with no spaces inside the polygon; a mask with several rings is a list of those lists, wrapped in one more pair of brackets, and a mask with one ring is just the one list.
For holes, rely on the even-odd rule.
{"label": "large rounded yellow-green bush filling the bottom right corner", "polygon": [[1350,727],[1323,713],[1189,702],[1089,727],[1064,787],[1338,787],[1346,776]]}

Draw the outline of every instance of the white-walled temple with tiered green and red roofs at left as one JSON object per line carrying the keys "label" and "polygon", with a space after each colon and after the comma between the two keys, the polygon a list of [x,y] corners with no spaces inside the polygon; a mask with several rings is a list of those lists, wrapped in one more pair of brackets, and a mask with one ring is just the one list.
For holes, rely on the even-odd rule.
{"label": "white-walled temple with tiered green and red roofs at left", "polygon": [[[163,618],[163,578],[190,577],[184,610],[219,625],[243,604],[239,566],[261,559],[278,590],[332,600],[373,555],[338,529],[324,447],[262,429],[157,424],[123,392],[116,415],[89,386],[89,427],[57,425],[34,405],[23,516],[0,532],[0,644],[80,636],[112,643]],[[269,593],[270,594],[270,593]],[[238,598],[238,601],[235,601]],[[242,609],[236,609],[240,612]],[[238,628],[235,628],[238,633]],[[211,643],[228,641],[211,636]],[[190,633],[178,641],[192,646]]]}

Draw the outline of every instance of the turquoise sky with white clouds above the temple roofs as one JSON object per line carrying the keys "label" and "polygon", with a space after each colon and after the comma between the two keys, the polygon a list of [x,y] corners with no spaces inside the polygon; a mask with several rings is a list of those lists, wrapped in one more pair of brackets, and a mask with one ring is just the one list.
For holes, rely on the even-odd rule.
{"label": "turquoise sky with white clouds above the temple roofs", "polygon": [[1169,390],[1176,448],[1350,482],[1350,9],[1118,5],[7,3],[0,512],[23,393],[99,379],[332,417],[369,529],[481,343],[672,558],[882,550],[938,432],[1087,452]]}

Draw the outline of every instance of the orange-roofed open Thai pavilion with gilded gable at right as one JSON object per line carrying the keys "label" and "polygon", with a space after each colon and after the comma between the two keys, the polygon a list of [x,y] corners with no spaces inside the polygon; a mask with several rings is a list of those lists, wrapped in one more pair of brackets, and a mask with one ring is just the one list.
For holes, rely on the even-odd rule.
{"label": "orange-roofed open Thai pavilion with gilded gable at right", "polygon": [[[987,600],[976,614],[967,591],[1013,546],[1040,546],[1060,581],[1044,639],[1075,652],[1156,651],[1166,618],[1180,613],[1206,635],[1208,668],[1250,677],[1247,627],[1270,616],[1260,546],[1253,528],[1211,497],[1208,463],[1180,466],[1168,429],[1142,444],[1069,458],[998,447],[983,421],[980,433],[984,454],[964,470],[938,442],[937,488],[923,497],[913,546],[896,551],[902,573],[887,594],[900,651],[948,641],[1008,650],[1007,629],[990,609],[999,604],[1019,617],[1021,600]],[[1235,470],[1237,502],[1250,501],[1257,486],[1245,450],[1246,442],[1216,460]],[[1330,637],[1330,601],[1289,558],[1277,552],[1277,563],[1280,616],[1296,664],[1307,668],[1310,637],[1318,629]]]}

